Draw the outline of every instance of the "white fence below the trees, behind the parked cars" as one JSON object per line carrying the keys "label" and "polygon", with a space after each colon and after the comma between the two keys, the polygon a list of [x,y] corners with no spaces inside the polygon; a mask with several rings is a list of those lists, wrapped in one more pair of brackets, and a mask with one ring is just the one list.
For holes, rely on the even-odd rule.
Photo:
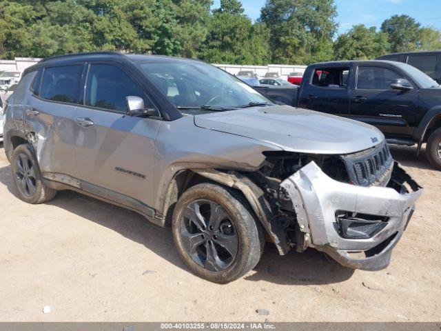
{"label": "white fence below the trees, behind the parked cars", "polygon": [[[16,57],[14,60],[0,60],[0,71],[12,70],[23,72],[41,59],[34,57]],[[264,77],[267,72],[277,72],[280,78],[287,79],[289,72],[304,72],[306,66],[288,66],[285,64],[268,64],[267,66],[249,66],[234,64],[214,64],[230,74],[237,74],[241,70],[252,70],[258,77]]]}

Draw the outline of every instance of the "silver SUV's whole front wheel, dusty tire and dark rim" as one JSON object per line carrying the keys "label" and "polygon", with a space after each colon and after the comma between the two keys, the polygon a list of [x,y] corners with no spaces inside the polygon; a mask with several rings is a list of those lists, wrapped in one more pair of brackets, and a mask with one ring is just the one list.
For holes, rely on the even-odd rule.
{"label": "silver SUV's whole front wheel, dusty tire and dark rim", "polygon": [[[246,205],[235,192],[212,183],[195,185],[182,194],[174,208],[172,232],[192,272],[207,281],[229,283],[256,266],[265,241],[260,223]],[[190,221],[189,215],[197,221]]]}

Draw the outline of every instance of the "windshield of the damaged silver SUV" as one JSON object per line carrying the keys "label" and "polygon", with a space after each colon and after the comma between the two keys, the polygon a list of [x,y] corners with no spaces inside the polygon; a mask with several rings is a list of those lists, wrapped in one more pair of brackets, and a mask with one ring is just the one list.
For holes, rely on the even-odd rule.
{"label": "windshield of the damaged silver SUV", "polygon": [[207,63],[157,61],[141,62],[139,67],[177,108],[206,111],[214,107],[238,108],[253,103],[271,103],[240,79]]}

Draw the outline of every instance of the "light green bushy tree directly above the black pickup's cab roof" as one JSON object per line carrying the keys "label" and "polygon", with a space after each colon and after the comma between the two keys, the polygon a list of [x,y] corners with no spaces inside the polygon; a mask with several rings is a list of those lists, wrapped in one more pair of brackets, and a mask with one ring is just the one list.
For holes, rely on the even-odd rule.
{"label": "light green bushy tree directly above the black pickup's cab roof", "polygon": [[375,59],[388,51],[387,34],[375,27],[360,24],[340,34],[334,43],[335,58],[339,60]]}

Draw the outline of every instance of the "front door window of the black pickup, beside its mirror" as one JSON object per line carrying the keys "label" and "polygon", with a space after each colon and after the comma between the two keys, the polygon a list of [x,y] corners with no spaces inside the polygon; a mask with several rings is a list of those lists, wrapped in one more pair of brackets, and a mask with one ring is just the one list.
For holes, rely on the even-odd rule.
{"label": "front door window of the black pickup, beside its mirror", "polygon": [[387,68],[358,67],[357,88],[364,90],[389,90],[395,79],[402,75]]}

